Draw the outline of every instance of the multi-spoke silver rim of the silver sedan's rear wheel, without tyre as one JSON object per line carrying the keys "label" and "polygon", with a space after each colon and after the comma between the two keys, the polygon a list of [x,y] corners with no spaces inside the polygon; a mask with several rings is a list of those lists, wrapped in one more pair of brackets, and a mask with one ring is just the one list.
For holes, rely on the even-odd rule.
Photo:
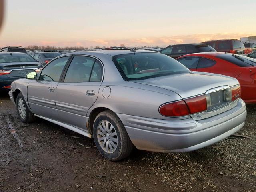
{"label": "multi-spoke silver rim of the silver sedan's rear wheel, without tyre", "polygon": [[107,120],[99,123],[97,128],[97,138],[100,143],[100,147],[107,153],[114,153],[117,145],[118,138],[116,134],[116,129]]}

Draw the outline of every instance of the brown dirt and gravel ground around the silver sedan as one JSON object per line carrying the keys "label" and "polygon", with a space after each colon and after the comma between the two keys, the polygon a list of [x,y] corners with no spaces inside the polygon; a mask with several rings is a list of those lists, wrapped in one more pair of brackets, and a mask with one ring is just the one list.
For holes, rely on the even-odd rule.
{"label": "brown dirt and gravel ground around the silver sedan", "polygon": [[104,159],[92,139],[38,119],[23,124],[0,93],[0,192],[256,191],[256,105],[237,134],[189,153],[135,150]]}

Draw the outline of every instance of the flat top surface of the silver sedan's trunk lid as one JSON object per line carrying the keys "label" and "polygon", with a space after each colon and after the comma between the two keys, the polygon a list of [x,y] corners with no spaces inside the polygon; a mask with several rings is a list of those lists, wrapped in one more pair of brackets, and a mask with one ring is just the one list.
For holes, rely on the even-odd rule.
{"label": "flat top surface of the silver sedan's trunk lid", "polygon": [[239,84],[235,78],[205,72],[181,73],[132,82],[171,90],[179,94],[181,98],[204,94],[207,90],[220,86],[234,86]]}

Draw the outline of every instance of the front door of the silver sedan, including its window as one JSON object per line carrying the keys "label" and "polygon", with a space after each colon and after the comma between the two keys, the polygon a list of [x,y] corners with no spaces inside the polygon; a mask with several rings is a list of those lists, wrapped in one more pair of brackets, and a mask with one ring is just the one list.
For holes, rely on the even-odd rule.
{"label": "front door of the silver sedan, including its window", "polygon": [[56,88],[70,56],[57,58],[45,66],[37,80],[28,84],[28,104],[34,114],[58,120]]}

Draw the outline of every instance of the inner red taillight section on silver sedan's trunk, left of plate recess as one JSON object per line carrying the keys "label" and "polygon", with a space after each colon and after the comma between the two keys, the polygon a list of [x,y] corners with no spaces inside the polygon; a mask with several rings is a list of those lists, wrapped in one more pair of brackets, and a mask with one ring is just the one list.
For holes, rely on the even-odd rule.
{"label": "inner red taillight section on silver sedan's trunk, left of plate recess", "polygon": [[185,99],[188,105],[190,114],[202,112],[207,110],[206,95],[200,95],[192,98]]}

